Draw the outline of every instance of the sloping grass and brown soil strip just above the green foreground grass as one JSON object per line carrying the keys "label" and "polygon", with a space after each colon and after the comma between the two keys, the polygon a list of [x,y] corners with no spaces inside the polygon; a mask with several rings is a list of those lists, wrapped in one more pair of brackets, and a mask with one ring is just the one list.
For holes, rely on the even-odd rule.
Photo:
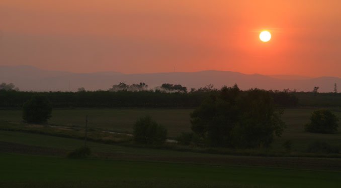
{"label": "sloping grass and brown soil strip just above the green foreground grass", "polygon": [[[0,131],[0,152],[15,152],[35,155],[66,156],[73,149],[83,146],[83,140],[42,134]],[[300,169],[340,170],[341,158],[264,157],[213,154],[153,149],[120,144],[88,142],[94,157],[120,160],[148,160],[214,165],[256,165]],[[6,149],[7,148],[7,149]]]}

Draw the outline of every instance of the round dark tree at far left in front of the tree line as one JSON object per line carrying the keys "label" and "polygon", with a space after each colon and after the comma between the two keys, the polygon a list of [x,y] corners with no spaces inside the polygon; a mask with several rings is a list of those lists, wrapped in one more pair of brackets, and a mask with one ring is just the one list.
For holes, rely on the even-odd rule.
{"label": "round dark tree at far left in front of the tree line", "polygon": [[45,123],[51,113],[51,102],[44,95],[34,95],[23,105],[23,119],[28,123]]}

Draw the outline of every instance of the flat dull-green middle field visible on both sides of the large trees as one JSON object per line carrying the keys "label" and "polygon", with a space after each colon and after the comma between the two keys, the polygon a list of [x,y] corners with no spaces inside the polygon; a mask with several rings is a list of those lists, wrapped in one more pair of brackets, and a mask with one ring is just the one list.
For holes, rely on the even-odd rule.
{"label": "flat dull-green middle field visible on both sides of the large trees", "polygon": [[[315,140],[332,145],[341,144],[341,132],[336,134],[316,134],[304,132],[304,124],[314,108],[285,109],[282,119],[287,128],[281,138],[275,138],[273,149],[281,149],[282,144],[290,140],[293,151],[304,151]],[[144,115],[150,115],[168,129],[168,136],[175,138],[181,132],[191,131],[190,113],[193,109],[54,109],[49,124],[59,126],[83,127],[85,116],[89,115],[89,127],[131,133],[135,121]],[[333,111],[341,119],[341,111]],[[20,110],[0,110],[1,121],[21,121]]]}

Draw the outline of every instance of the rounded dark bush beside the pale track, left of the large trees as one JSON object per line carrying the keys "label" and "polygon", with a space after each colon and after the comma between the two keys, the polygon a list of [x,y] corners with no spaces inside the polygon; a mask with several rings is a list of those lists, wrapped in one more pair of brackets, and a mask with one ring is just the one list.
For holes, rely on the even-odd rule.
{"label": "rounded dark bush beside the pale track, left of the large trees", "polygon": [[163,144],[167,129],[158,125],[150,116],[141,117],[134,125],[134,140],[145,144]]}

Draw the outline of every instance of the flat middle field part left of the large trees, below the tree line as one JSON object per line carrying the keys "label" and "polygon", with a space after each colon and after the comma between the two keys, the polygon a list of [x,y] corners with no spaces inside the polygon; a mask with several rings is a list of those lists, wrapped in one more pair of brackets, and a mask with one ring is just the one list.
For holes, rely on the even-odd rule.
{"label": "flat middle field part left of the large trees, below the tree line", "polygon": [[[178,136],[190,131],[190,113],[193,109],[54,109],[50,124],[61,126],[84,126],[89,115],[89,127],[118,132],[133,130],[136,120],[145,115],[167,127],[169,136]],[[0,110],[0,121],[21,121],[20,110]]]}

